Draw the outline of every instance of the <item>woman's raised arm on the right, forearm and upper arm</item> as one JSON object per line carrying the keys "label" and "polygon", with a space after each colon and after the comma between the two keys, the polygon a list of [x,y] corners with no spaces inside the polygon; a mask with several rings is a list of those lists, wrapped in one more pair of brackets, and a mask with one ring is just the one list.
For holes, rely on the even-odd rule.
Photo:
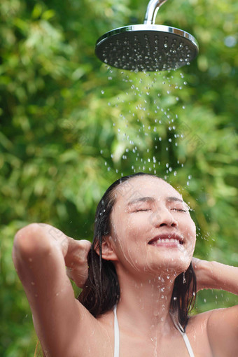
{"label": "woman's raised arm on the right, forearm and upper arm", "polygon": [[[238,295],[238,267],[193,258],[197,290],[218,289]],[[216,357],[238,356],[238,305],[210,311],[207,334]]]}

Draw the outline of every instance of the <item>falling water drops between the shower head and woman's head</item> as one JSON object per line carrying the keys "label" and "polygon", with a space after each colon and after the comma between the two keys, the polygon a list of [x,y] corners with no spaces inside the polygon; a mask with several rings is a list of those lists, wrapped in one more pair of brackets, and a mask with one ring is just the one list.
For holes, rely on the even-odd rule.
{"label": "falling water drops between the shower head and woman's head", "polygon": [[[187,85],[184,73],[166,72],[133,72],[113,69],[106,66],[106,75],[110,85],[118,92],[110,97],[113,132],[116,136],[111,146],[111,162],[118,172],[118,163],[130,172],[151,172],[160,174],[164,179],[177,174],[183,167],[186,157],[183,146],[188,144],[189,126],[183,120],[186,111],[186,98],[183,87]],[[121,85],[123,83],[123,86]],[[101,91],[102,97],[107,88]],[[107,170],[113,169],[105,158]],[[129,160],[130,158],[130,160]],[[133,162],[128,167],[128,162]],[[123,175],[123,173],[121,173]],[[188,176],[187,185],[191,175]]]}

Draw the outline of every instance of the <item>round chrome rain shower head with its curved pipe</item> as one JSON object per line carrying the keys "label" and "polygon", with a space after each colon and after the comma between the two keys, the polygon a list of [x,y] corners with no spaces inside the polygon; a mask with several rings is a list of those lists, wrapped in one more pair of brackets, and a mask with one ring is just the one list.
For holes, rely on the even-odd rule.
{"label": "round chrome rain shower head with its curved pipe", "polygon": [[190,64],[198,54],[196,39],[181,29],[155,25],[165,1],[148,3],[144,24],[119,27],[101,36],[97,57],[109,66],[132,71],[165,71]]}

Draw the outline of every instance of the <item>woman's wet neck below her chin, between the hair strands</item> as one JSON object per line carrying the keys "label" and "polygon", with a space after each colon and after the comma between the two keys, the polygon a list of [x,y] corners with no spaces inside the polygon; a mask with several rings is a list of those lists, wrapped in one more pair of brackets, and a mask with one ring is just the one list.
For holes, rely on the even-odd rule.
{"label": "woman's wet neck below her chin, between the hair strands", "polygon": [[118,272],[120,283],[120,302],[118,311],[125,316],[125,327],[151,337],[153,330],[166,333],[172,320],[169,306],[176,276],[161,274],[158,277],[144,276],[132,278],[129,274]]}

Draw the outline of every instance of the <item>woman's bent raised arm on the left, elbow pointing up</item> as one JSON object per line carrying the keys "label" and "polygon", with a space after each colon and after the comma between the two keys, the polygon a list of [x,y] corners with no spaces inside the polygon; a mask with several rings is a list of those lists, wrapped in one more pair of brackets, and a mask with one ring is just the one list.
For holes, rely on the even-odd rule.
{"label": "woman's bent raised arm on the left, elbow pointing up", "polygon": [[77,337],[87,324],[93,324],[94,318],[75,299],[65,269],[68,266],[69,274],[82,286],[89,250],[89,241],[76,241],[41,223],[27,225],[15,235],[13,262],[46,356],[75,355]]}

